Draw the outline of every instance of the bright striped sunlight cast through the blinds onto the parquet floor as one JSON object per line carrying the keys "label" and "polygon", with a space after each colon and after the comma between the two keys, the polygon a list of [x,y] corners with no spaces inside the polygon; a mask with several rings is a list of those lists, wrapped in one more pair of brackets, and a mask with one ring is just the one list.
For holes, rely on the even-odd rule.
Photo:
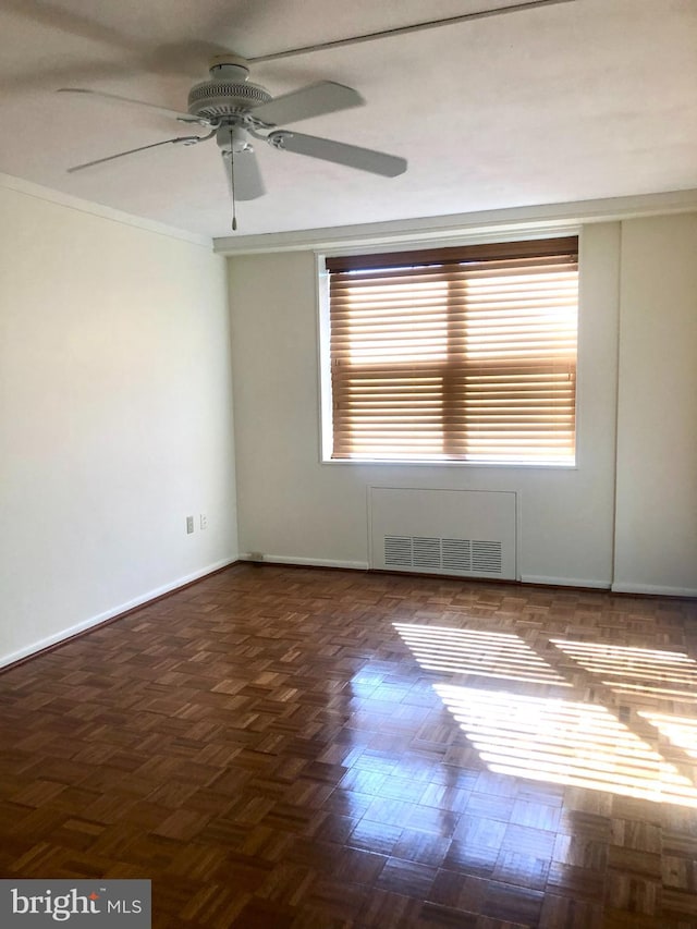
{"label": "bright striped sunlight cast through the blinds onto the parquet floor", "polygon": [[[572,687],[519,636],[394,623],[429,671]],[[697,662],[676,651],[550,639],[615,693],[695,699]],[[563,669],[562,669],[563,670]],[[433,689],[491,771],[655,802],[697,807],[697,787],[639,734],[598,702],[528,696],[440,682]],[[639,710],[687,758],[697,759],[697,720]],[[648,730],[647,730],[648,731]],[[683,773],[686,771],[686,773]]]}

